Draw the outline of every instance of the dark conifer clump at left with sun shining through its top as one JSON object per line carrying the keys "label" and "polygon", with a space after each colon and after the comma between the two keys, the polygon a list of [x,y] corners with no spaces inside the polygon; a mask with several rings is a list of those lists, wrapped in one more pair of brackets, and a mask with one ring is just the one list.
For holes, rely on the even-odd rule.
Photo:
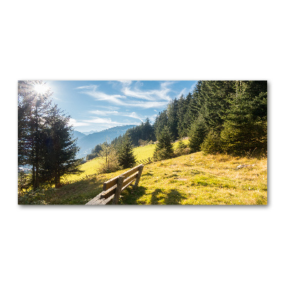
{"label": "dark conifer clump at left with sun shining through its top", "polygon": [[70,117],[52,103],[51,90],[38,92],[37,86],[43,82],[18,84],[18,164],[31,167],[25,187],[33,190],[58,187],[63,175],[81,172]]}

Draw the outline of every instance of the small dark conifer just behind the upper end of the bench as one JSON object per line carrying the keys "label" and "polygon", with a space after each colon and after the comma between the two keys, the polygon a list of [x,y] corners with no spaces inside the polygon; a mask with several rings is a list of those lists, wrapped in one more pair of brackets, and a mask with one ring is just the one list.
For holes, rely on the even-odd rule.
{"label": "small dark conifer just behind the upper end of the bench", "polygon": [[118,146],[118,162],[123,168],[133,167],[135,165],[133,145],[127,133],[123,135],[123,140]]}

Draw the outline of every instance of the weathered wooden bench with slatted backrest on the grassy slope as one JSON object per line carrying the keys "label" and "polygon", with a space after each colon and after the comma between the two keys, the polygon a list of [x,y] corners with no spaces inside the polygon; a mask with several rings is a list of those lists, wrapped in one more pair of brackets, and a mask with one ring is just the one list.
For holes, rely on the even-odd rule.
{"label": "weathered wooden bench with slatted backrest on the grassy slope", "polygon": [[91,199],[86,204],[118,204],[120,193],[131,183],[135,182],[133,189],[138,186],[142,175],[143,165],[133,167],[131,170],[108,180],[103,184],[103,192]]}

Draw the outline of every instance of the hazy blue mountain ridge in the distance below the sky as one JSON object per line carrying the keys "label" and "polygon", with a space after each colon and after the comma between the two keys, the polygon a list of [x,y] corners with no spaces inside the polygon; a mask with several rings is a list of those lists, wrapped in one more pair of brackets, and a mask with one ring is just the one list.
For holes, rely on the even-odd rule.
{"label": "hazy blue mountain ridge in the distance below the sky", "polygon": [[108,140],[108,142],[110,142],[119,135],[123,135],[129,128],[133,127],[135,127],[135,125],[122,125],[120,127],[101,130],[98,133],[85,135],[83,138],[77,141],[78,147],[81,147],[81,150],[80,152],[78,152],[77,157],[85,157],[86,155],[91,153],[91,150],[95,147],[95,145],[105,142],[106,139]]}

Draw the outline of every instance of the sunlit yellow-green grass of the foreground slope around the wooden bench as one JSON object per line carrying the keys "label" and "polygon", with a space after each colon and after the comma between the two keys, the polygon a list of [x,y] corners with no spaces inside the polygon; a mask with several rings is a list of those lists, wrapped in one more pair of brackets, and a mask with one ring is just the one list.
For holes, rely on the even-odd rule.
{"label": "sunlit yellow-green grass of the foreground slope around the wooden bench", "polygon": [[[153,146],[147,147],[150,153]],[[240,164],[255,165],[237,169]],[[103,182],[125,171],[66,185],[46,202],[86,204],[102,191]],[[136,190],[122,192],[120,204],[267,204],[267,160],[196,152],[153,162],[145,165]]]}

